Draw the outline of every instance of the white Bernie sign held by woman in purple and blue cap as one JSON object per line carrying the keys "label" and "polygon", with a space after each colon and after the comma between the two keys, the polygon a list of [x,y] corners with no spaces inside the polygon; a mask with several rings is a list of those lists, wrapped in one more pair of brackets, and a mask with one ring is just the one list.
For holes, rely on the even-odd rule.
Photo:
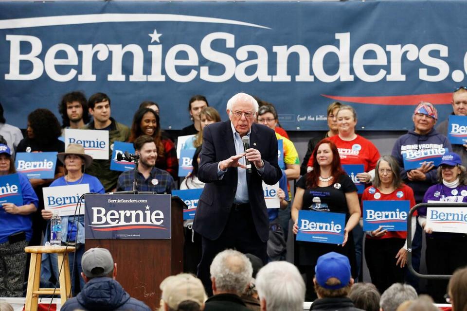
{"label": "white Bernie sign held by woman in purple and blue cap", "polygon": [[452,203],[452,207],[428,207],[427,226],[434,232],[467,233],[467,207],[455,207],[455,205]]}

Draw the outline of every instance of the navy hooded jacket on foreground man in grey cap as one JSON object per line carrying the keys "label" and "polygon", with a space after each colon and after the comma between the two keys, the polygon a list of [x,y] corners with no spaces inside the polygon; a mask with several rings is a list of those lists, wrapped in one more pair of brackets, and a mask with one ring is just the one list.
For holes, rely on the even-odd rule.
{"label": "navy hooded jacket on foreground man in grey cap", "polygon": [[68,299],[62,311],[150,311],[144,302],[131,298],[119,282],[110,277],[91,279],[76,297]]}

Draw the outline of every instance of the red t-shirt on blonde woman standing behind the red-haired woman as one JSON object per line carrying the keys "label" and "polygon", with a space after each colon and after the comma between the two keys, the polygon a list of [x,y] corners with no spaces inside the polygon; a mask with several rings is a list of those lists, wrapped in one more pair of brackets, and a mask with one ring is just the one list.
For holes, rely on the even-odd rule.
{"label": "red t-shirt on blonde woman standing behind the red-haired woman", "polygon": [[[339,135],[327,139],[336,144],[341,156],[341,164],[363,164],[365,172],[376,167],[380,155],[370,140],[360,135],[357,135],[357,138],[353,140],[342,140]],[[310,156],[307,166],[313,166],[313,156]]]}

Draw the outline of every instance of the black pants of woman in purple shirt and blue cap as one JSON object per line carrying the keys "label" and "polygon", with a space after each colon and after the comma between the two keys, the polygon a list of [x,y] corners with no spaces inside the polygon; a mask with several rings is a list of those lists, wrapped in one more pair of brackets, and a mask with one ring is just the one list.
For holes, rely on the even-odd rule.
{"label": "black pants of woman in purple shirt and blue cap", "polygon": [[[467,264],[467,237],[436,239],[427,237],[426,261],[428,274],[450,275]],[[428,294],[436,303],[446,303],[448,280],[428,280]]]}

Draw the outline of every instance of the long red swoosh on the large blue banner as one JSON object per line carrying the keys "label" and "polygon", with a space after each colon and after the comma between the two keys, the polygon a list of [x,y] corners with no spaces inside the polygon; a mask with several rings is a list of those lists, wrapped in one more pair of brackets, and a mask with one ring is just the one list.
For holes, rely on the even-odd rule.
{"label": "long red swoosh on the large blue banner", "polygon": [[451,104],[452,93],[397,95],[397,96],[334,96],[321,94],[321,96],[340,102],[375,105],[410,106],[420,102],[430,102],[435,105]]}

